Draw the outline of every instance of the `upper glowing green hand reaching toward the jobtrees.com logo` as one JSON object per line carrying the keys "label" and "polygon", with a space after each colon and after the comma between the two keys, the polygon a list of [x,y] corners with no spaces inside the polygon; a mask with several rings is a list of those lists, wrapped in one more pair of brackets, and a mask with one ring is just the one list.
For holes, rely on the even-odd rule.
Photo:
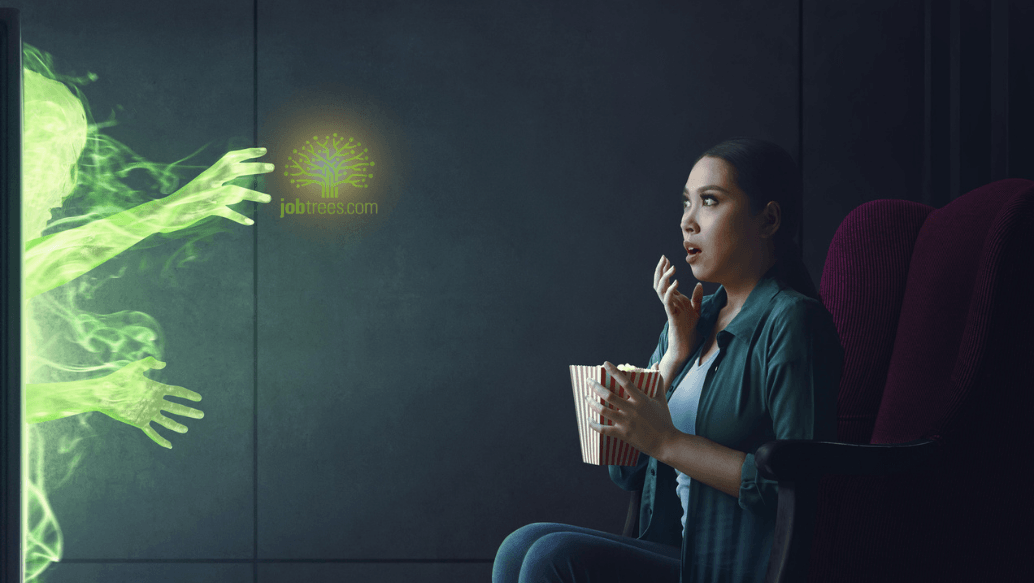
{"label": "upper glowing green hand reaching toward the jobtrees.com logo", "polygon": [[212,215],[218,215],[241,224],[253,224],[253,220],[231,210],[229,205],[235,205],[241,201],[269,203],[273,200],[272,196],[224,183],[242,176],[273,172],[274,166],[270,163],[243,162],[243,160],[264,155],[266,155],[265,148],[227,152],[219,161],[201,173],[186,186],[164,198],[155,201],[154,214],[148,217],[148,223],[153,225],[158,233],[173,233]]}

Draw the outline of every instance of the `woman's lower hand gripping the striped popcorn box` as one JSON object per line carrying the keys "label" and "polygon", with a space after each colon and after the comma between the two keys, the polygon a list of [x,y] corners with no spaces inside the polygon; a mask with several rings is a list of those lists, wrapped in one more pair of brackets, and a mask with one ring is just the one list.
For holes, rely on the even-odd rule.
{"label": "woman's lower hand gripping the striped popcorn box", "polygon": [[589,379],[596,394],[605,403],[617,407],[612,409],[600,404],[599,401],[586,398],[594,410],[613,423],[613,425],[601,425],[589,420],[589,427],[603,435],[617,437],[647,456],[657,457],[666,440],[678,433],[678,429],[671,421],[667,399],[663,395],[656,399],[647,397],[629,380],[628,375],[617,370],[616,366],[609,362],[603,366],[617,385],[625,389],[628,398],[618,396],[595,379]]}

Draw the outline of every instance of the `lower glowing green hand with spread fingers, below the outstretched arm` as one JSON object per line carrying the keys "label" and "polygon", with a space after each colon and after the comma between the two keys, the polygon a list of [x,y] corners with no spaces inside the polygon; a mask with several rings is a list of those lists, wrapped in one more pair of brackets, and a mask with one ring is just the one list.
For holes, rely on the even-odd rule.
{"label": "lower glowing green hand with spread fingers, below the outstretched arm", "polygon": [[158,435],[151,427],[150,422],[153,421],[177,433],[186,433],[185,425],[169,419],[161,415],[161,411],[193,419],[201,419],[205,417],[205,413],[180,403],[166,401],[164,397],[171,395],[200,401],[201,395],[182,387],[162,385],[144,376],[144,371],[152,368],[165,368],[165,363],[154,357],[148,357],[126,365],[108,376],[95,379],[97,385],[94,396],[97,398],[97,404],[94,410],[136,427],[148,437],[154,439],[155,443],[162,448],[172,449],[172,443]]}

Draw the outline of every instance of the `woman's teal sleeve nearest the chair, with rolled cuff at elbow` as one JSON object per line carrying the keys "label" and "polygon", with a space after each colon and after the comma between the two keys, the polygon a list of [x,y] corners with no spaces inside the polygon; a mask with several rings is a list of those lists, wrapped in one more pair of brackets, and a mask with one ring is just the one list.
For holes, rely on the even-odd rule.
{"label": "woman's teal sleeve nearest the chair, with rolled cuff at elbow", "polygon": [[[772,315],[771,332],[759,346],[766,355],[761,387],[776,439],[837,439],[837,394],[844,349],[832,316],[821,303],[796,302]],[[776,512],[779,483],[758,473],[754,452],[740,468],[739,505]]]}

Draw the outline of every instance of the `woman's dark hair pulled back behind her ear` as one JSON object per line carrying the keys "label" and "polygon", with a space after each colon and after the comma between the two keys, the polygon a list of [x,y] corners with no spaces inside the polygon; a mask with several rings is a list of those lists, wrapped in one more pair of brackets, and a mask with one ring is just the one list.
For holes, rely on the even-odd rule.
{"label": "woman's dark hair pulled back behind her ear", "polygon": [[703,157],[721,158],[733,170],[736,185],[750,201],[751,214],[760,213],[769,201],[780,207],[780,227],[773,237],[776,278],[797,292],[822,301],[800,256],[796,240],[801,221],[803,184],[793,157],[776,144],[754,137],[733,137],[709,148]]}

